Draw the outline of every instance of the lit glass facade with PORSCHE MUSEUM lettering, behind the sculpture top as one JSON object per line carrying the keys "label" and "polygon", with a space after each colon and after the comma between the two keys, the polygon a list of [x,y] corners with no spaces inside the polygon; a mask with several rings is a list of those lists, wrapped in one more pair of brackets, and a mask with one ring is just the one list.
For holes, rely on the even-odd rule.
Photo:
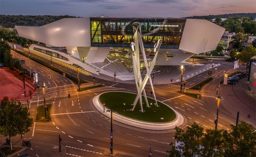
{"label": "lit glass facade with PORSCHE MUSEUM lettering, behind the sculpture top", "polygon": [[186,19],[91,17],[91,46],[130,47],[132,23],[139,22],[145,48],[162,39],[161,48],[178,48]]}

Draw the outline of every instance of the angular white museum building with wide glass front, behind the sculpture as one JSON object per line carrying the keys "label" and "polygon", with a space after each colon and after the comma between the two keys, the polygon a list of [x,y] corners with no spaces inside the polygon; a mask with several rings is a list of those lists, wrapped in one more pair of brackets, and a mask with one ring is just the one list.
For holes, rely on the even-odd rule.
{"label": "angular white museum building with wide glass front, behind the sculpture", "polygon": [[[30,45],[30,50],[90,73],[113,77],[116,72],[118,79],[130,80],[134,79],[130,47],[134,41],[133,22],[140,23],[149,65],[158,39],[163,44],[157,65],[193,65],[186,60],[215,50],[225,31],[207,20],[130,17],[65,18],[41,27],[15,28],[20,37],[43,43]],[[173,57],[167,57],[169,54]]]}

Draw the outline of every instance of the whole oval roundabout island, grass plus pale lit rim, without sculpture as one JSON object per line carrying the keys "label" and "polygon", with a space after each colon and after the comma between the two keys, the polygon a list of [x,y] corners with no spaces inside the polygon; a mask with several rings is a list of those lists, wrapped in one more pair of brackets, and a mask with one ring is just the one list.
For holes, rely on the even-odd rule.
{"label": "whole oval roundabout island, grass plus pale lit rim, without sculpture", "polygon": [[[140,106],[137,105],[135,110],[131,111],[133,107],[133,100],[135,93],[129,92],[105,92],[93,98],[95,108],[107,117],[110,113],[106,110],[114,110],[114,121],[118,121],[127,125],[135,126],[150,130],[166,130],[173,129],[175,126],[180,126],[184,118],[180,113],[176,112],[172,107],[158,101],[158,107],[154,104],[154,99],[147,97],[150,107],[146,106],[143,99],[144,112],[140,112]],[[105,112],[103,107],[105,102]]]}

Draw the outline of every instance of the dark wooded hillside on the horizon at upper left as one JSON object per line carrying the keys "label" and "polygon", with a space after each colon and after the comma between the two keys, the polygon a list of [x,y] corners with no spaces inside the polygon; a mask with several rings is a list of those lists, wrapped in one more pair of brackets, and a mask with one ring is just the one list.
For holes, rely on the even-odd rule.
{"label": "dark wooded hillside on the horizon at upper left", "polygon": [[54,21],[74,16],[51,16],[51,15],[0,15],[0,25],[5,28],[14,28],[15,25],[42,26]]}

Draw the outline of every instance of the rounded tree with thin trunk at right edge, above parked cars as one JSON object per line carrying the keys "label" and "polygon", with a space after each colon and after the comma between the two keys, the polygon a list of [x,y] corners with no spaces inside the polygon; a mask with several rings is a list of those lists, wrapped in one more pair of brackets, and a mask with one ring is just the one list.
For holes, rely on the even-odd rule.
{"label": "rounded tree with thin trunk at right edge, above parked cars", "polygon": [[[256,55],[256,48],[253,47],[252,45],[248,45],[246,46],[242,52],[238,55],[238,58],[244,62],[247,65],[250,62],[250,59]],[[247,68],[246,68],[246,72],[247,72]]]}

